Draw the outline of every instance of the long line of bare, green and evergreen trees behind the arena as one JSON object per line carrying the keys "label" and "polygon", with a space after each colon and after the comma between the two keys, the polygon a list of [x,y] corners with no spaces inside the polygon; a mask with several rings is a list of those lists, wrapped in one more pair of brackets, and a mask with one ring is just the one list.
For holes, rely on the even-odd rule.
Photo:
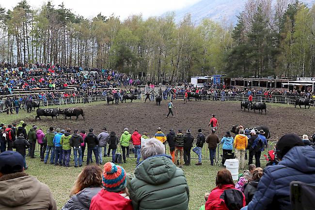
{"label": "long line of bare, green and evergreen trees behind the arena", "polygon": [[235,27],[186,15],[98,14],[92,19],[48,1],[31,9],[21,0],[0,7],[0,62],[54,63],[145,72],[150,81],[183,81],[192,75],[315,75],[315,12],[299,1],[248,0]]}

